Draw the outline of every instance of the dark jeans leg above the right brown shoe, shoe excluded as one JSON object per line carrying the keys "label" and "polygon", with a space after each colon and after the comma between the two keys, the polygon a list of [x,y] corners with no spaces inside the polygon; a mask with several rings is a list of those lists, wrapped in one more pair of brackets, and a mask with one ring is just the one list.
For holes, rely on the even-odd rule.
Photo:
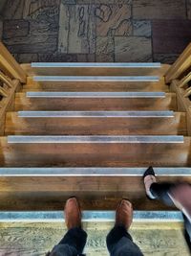
{"label": "dark jeans leg above the right brown shoe, shoe excluded", "polygon": [[115,226],[108,234],[106,243],[111,256],[143,255],[124,226]]}

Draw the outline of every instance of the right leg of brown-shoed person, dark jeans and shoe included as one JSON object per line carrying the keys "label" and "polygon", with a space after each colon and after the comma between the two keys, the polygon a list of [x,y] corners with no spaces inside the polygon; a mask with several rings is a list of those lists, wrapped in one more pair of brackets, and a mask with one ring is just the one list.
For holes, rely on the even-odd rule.
{"label": "right leg of brown-shoed person, dark jeans and shoe included", "polygon": [[128,200],[121,200],[117,207],[115,227],[110,231],[106,239],[111,256],[143,255],[127,231],[132,223],[132,219],[132,204]]}

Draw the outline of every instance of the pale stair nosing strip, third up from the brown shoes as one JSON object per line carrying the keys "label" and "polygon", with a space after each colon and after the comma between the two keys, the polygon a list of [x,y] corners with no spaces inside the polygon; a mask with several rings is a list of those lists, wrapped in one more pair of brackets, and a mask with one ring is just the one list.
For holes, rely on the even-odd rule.
{"label": "pale stair nosing strip, third up from the brown shoes", "polygon": [[23,136],[23,135],[10,135],[8,136],[8,143],[26,143],[26,144],[42,144],[42,143],[65,143],[65,144],[106,144],[106,143],[183,143],[183,136],[180,135],[161,135],[161,136]]}

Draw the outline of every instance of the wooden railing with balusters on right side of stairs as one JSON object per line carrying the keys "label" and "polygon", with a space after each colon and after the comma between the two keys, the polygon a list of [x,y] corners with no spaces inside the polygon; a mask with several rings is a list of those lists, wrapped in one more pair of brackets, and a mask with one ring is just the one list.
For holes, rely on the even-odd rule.
{"label": "wooden railing with balusters on right side of stairs", "polygon": [[191,43],[169,68],[165,81],[177,94],[178,111],[186,111],[188,135],[191,135]]}

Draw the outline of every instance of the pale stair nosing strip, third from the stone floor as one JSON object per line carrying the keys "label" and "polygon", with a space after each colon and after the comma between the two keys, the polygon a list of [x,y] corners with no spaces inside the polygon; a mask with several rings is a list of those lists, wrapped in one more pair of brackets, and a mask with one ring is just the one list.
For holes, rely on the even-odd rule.
{"label": "pale stair nosing strip, third from the stone floor", "polygon": [[27,98],[165,98],[165,92],[27,92]]}

